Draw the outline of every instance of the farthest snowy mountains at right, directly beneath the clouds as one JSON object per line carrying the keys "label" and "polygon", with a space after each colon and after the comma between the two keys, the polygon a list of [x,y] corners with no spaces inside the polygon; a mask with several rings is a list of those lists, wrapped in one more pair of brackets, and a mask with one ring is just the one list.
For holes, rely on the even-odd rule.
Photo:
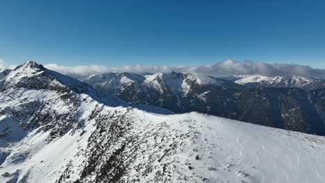
{"label": "farthest snowy mountains at right, directly beneath the clouds", "polygon": [[260,75],[242,75],[232,76],[235,83],[246,87],[297,87],[306,90],[325,88],[325,79],[308,78],[303,76],[260,76]]}

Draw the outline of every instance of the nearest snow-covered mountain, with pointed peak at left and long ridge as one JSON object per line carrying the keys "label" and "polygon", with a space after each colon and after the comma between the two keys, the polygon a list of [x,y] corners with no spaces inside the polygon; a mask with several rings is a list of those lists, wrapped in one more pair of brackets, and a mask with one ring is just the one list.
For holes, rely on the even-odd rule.
{"label": "nearest snow-covered mountain, with pointed peak at left and long ridge", "polygon": [[324,182],[324,137],[131,105],[35,62],[0,91],[0,182]]}

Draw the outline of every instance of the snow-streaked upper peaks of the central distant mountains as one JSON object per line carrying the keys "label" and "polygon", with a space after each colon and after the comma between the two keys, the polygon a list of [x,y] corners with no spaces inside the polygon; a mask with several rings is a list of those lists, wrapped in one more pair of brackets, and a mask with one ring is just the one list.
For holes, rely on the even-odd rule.
{"label": "snow-streaked upper peaks of the central distant mountains", "polygon": [[[136,82],[144,91],[155,89],[159,94],[163,94],[169,89],[173,94],[186,95],[193,85],[217,85],[223,84],[222,80],[205,76],[199,73],[106,73],[92,75],[85,79],[89,85],[110,91],[112,89],[123,90],[125,86]],[[226,89],[226,87],[223,87]],[[150,91],[150,90],[149,90]],[[148,97],[150,98],[150,97]]]}

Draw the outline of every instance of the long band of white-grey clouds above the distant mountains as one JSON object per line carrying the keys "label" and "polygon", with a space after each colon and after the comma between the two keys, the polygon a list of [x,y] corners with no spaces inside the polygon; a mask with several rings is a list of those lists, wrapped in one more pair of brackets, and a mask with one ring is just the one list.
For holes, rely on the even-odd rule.
{"label": "long band of white-grey clouds above the distant mountains", "polygon": [[85,77],[94,73],[108,72],[133,72],[133,73],[169,73],[192,72],[201,73],[209,76],[231,76],[231,75],[251,75],[258,74],[263,76],[307,76],[315,78],[325,78],[324,69],[314,69],[299,64],[269,64],[265,62],[235,62],[226,60],[217,62],[213,65],[202,65],[199,67],[168,67],[165,65],[133,65],[124,67],[102,67],[99,65],[65,67],[58,64],[45,64],[48,69],[65,73],[70,76]]}

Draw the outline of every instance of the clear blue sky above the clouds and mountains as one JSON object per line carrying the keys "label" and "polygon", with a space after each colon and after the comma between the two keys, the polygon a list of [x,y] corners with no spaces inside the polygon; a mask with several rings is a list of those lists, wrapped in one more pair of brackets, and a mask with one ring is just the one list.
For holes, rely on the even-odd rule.
{"label": "clear blue sky above the clouds and mountains", "polygon": [[0,1],[0,59],[325,68],[325,1]]}

